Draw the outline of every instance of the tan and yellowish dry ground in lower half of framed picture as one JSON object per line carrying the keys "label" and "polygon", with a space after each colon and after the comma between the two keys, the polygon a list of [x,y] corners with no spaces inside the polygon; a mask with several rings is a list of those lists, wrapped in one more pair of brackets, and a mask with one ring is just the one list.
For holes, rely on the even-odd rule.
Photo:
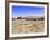
{"label": "tan and yellowish dry ground in lower half of framed picture", "polygon": [[13,34],[30,34],[30,32],[43,32],[45,21],[27,21],[27,19],[12,19],[12,32]]}

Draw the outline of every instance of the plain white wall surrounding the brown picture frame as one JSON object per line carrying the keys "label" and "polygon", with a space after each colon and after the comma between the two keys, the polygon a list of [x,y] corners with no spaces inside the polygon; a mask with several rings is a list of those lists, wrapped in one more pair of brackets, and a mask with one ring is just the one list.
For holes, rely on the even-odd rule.
{"label": "plain white wall surrounding the brown picture frame", "polygon": [[[29,0],[29,1],[49,2],[49,0]],[[5,0],[0,0],[0,40],[5,40]],[[50,40],[50,37],[49,38],[20,39],[20,40]]]}

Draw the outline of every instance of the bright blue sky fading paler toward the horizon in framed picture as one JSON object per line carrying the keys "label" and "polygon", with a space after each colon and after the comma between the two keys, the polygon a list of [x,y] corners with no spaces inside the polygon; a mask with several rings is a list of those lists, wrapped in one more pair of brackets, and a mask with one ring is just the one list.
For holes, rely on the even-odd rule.
{"label": "bright blue sky fading paler toward the horizon in framed picture", "polygon": [[43,6],[12,6],[12,17],[38,16],[45,15]]}

